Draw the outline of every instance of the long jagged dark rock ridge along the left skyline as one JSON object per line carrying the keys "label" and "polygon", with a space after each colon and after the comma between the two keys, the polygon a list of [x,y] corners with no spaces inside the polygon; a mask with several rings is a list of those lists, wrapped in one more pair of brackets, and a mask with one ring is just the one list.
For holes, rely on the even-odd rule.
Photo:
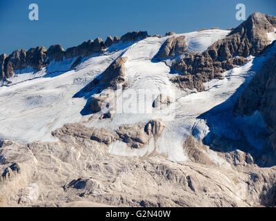
{"label": "long jagged dark rock ridge along the left skyline", "polygon": [[90,56],[96,53],[102,53],[112,44],[117,44],[119,41],[138,41],[139,39],[144,39],[148,37],[148,32],[128,32],[126,35],[119,37],[108,36],[106,41],[99,37],[97,39],[84,41],[79,46],[74,46],[64,50],[61,45],[57,44],[50,46],[46,50],[43,46],[38,46],[37,48],[30,48],[30,50],[19,49],[14,50],[11,55],[0,55],[0,80],[8,80],[8,78],[14,75],[16,70],[22,70],[30,66],[34,70],[41,70],[41,68],[48,66],[50,61],[62,61],[63,57],[65,59],[70,59],[73,57],[79,57],[71,68],[75,68],[80,62],[82,56]]}

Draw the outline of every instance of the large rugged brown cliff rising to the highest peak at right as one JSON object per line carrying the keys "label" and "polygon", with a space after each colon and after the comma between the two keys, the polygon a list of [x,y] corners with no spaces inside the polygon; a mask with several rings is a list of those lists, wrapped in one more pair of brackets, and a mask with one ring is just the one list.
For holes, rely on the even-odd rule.
{"label": "large rugged brown cliff rising to the highest peak at right", "polygon": [[256,12],[230,32],[228,37],[216,41],[206,51],[186,52],[185,57],[174,61],[171,68],[172,72],[183,73],[189,77],[174,77],[172,81],[180,83],[180,88],[200,85],[195,88],[204,89],[202,83],[221,78],[224,71],[244,64],[248,55],[260,55],[270,44],[266,33],[274,30],[275,20],[273,16]]}

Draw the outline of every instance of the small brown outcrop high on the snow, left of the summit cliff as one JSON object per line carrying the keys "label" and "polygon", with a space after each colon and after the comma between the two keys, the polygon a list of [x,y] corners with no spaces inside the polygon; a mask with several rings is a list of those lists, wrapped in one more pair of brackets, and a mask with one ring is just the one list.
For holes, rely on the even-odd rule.
{"label": "small brown outcrop high on the snow, left of the summit cliff", "polygon": [[170,37],[161,46],[156,59],[167,59],[168,57],[175,57],[177,55],[183,55],[187,50],[185,36]]}

